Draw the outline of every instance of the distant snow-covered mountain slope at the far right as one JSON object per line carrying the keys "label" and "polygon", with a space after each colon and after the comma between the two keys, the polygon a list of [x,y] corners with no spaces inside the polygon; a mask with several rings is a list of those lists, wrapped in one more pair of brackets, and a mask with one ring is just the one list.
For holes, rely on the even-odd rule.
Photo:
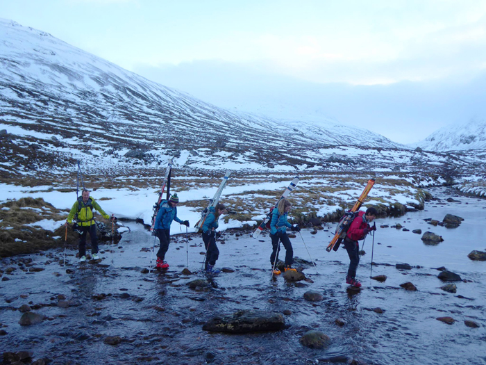
{"label": "distant snow-covered mountain slope at the far right", "polygon": [[486,149],[486,120],[472,118],[462,124],[449,125],[410,146],[428,151]]}

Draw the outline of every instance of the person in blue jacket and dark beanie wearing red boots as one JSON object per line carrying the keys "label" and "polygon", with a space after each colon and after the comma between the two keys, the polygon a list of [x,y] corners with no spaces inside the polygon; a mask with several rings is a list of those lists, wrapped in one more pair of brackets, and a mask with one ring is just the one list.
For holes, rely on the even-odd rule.
{"label": "person in blue jacket and dark beanie wearing red boots", "polygon": [[169,250],[170,241],[170,225],[172,220],[189,227],[189,220],[180,220],[177,218],[177,204],[179,202],[179,197],[177,194],[171,195],[169,200],[163,203],[158,210],[156,216],[156,224],[154,229],[156,229],[156,235],[160,241],[160,248],[157,252],[157,267],[158,268],[169,268],[169,263],[165,261],[165,253]]}

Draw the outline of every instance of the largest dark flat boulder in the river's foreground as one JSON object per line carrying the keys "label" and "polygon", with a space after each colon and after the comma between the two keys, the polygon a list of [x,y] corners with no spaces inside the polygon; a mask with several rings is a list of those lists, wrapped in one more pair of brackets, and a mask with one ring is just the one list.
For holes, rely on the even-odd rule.
{"label": "largest dark flat boulder in the river's foreground", "polygon": [[280,331],[285,327],[282,314],[274,311],[243,310],[228,316],[217,316],[203,325],[204,331],[251,333]]}

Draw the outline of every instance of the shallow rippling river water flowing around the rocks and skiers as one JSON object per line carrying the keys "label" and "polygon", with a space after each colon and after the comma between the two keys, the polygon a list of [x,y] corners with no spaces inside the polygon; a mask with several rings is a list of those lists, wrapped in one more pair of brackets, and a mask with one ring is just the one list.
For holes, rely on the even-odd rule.
{"label": "shallow rippling river water flowing around the rocks and skiers", "polygon": [[[101,246],[106,250],[101,265],[80,265],[76,252],[68,250],[67,268],[74,273],[66,273],[56,261],[62,250],[3,259],[3,270],[17,269],[3,275],[8,281],[0,282],[0,322],[7,332],[0,336],[0,347],[31,351],[34,359],[47,358],[52,364],[321,364],[330,357],[354,359],[357,364],[486,364],[486,261],[467,257],[472,250],[486,250],[486,200],[456,196],[445,188],[430,191],[441,200],[429,202],[425,211],[376,220],[377,226],[401,223],[410,231],[378,228],[374,243],[372,236],[367,238],[358,268],[363,288],[357,293],[346,291],[346,251],[325,250],[335,224],[315,235],[303,229],[303,239],[292,238],[294,256],[309,260],[306,245],[317,264],[317,270],[304,266],[312,282],[298,284],[283,277],[271,279],[266,233],[261,236],[264,242],[247,233],[224,233],[217,266],[235,271],[215,276],[206,291],[186,285],[204,278],[197,273],[203,260],[199,236],[190,236],[190,241],[184,232],[173,236],[166,257],[169,270],[142,273],[149,266],[153,236],[135,224],[114,254],[108,252],[109,245]],[[447,197],[460,202],[446,202]],[[424,220],[442,221],[446,213],[464,221],[458,228],[446,229]],[[424,245],[413,229],[439,234],[444,242]],[[377,264],[372,274],[386,275],[383,283],[370,279],[371,250]],[[26,259],[44,270],[20,270],[19,261]],[[193,275],[181,274],[187,261]],[[397,270],[396,263],[409,263],[412,269]],[[455,283],[457,293],[439,289],[445,284],[437,278],[440,266],[464,279]],[[418,290],[402,289],[399,285],[404,282],[412,282]],[[321,292],[324,300],[307,302],[303,293],[309,290]],[[58,295],[78,305],[58,307]],[[20,326],[22,313],[17,309],[28,303],[41,305],[33,311],[47,319]],[[383,313],[371,310],[376,307]],[[290,311],[285,316],[287,328],[238,335],[202,330],[210,318],[240,309]],[[443,316],[456,322],[437,321]],[[336,325],[337,318],[345,325]],[[464,320],[480,327],[467,327]],[[302,346],[299,339],[307,330],[327,334],[330,346],[324,350]],[[121,342],[105,343],[110,336],[119,336]]]}

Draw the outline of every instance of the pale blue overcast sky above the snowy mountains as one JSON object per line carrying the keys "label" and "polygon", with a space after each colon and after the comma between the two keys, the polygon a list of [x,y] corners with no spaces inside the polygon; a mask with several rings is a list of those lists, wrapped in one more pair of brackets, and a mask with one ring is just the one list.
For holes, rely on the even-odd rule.
{"label": "pale blue overcast sky above the snowy mountains", "polygon": [[399,143],[486,115],[486,1],[1,0],[0,17],[226,108]]}

